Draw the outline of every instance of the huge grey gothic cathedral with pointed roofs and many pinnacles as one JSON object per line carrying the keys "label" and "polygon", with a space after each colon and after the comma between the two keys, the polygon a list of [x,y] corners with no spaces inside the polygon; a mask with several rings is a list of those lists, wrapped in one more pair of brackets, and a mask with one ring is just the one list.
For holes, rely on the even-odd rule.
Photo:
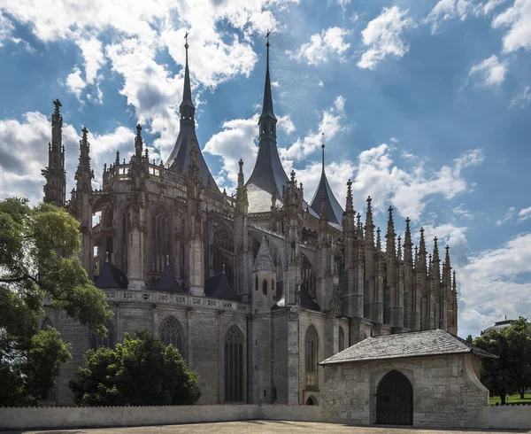
{"label": "huge grey gothic cathedral with pointed roofs and many pinnacles", "polygon": [[162,336],[170,317],[173,335],[165,331],[164,337],[181,345],[198,373],[202,403],[319,404],[331,369],[317,363],[347,346],[408,330],[457,334],[448,249],[441,266],[435,240],[428,260],[422,230],[419,250],[413,249],[409,220],[404,243],[396,239],[389,208],[384,252],[371,199],[363,225],[350,181],[342,213],[324,165],[312,204],[304,200],[295,172],[284,172],[269,44],[257,162],[247,182],[240,162],[234,196],[219,190],[204,161],[189,83],[187,46],[181,130],[166,163],[150,160],[138,125],[132,155],[117,153],[104,166],[101,189],[94,190],[83,128],[68,202],[56,102],[49,148],[54,172],[45,170],[44,199],[65,205],[80,221],[81,264],[104,291],[114,317],[109,337],[100,342],[47,307],[47,321],[73,345],[73,360],[51,400],[70,401],[67,382],[89,347],[114,345],[137,329]]}

